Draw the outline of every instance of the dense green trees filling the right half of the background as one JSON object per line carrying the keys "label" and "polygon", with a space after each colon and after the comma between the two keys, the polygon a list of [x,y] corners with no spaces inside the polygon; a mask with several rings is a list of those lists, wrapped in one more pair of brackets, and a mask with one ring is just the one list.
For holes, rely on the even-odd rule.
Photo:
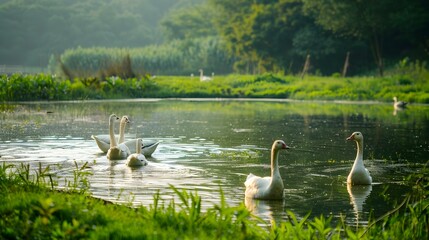
{"label": "dense green trees filling the right half of the background", "polygon": [[[364,70],[358,65],[380,69],[385,58],[428,58],[427,1],[401,0],[394,5],[391,1],[356,0],[210,3],[217,8],[214,21],[227,39],[228,49],[240,58],[241,65],[257,71],[302,68],[307,54],[313,71],[322,73],[341,71],[340,62],[347,52],[351,53],[350,70],[355,73]],[[368,64],[374,62],[371,56],[376,65]]]}

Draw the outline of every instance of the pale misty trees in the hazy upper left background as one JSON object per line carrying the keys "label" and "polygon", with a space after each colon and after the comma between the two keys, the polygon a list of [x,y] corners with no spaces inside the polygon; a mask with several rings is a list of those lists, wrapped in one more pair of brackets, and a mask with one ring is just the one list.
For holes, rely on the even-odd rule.
{"label": "pale misty trees in the hazy upper left background", "polygon": [[0,64],[42,67],[68,48],[162,42],[158,22],[181,1],[0,1]]}

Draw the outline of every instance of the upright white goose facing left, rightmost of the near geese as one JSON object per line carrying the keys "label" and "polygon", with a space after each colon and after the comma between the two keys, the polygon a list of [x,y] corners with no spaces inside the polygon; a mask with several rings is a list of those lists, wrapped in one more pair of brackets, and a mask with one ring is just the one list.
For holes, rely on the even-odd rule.
{"label": "upright white goose facing left, rightmost of the near geese", "polygon": [[361,132],[354,132],[347,141],[355,141],[357,146],[357,154],[352,170],[347,177],[347,183],[351,185],[370,185],[372,178],[369,175],[368,169],[363,165],[363,135]]}

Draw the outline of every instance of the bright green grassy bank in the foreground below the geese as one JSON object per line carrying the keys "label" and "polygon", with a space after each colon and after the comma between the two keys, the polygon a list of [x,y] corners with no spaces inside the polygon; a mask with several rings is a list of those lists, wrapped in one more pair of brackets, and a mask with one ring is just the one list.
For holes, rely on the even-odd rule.
{"label": "bright green grassy bank in the foreground below the geese", "polygon": [[[85,166],[63,191],[55,190],[49,169],[27,165],[0,166],[0,238],[2,239],[427,239],[428,170],[411,176],[413,191],[396,209],[368,227],[333,225],[328,216],[298,219],[264,228],[244,207],[224,202],[201,210],[197,193],[172,187],[181,202],[165,203],[156,194],[153,204],[131,208],[90,197]],[[30,174],[34,172],[35,174]],[[82,184],[84,183],[84,184]],[[78,188],[80,186],[80,188]],[[222,193],[220,193],[222,194]]]}

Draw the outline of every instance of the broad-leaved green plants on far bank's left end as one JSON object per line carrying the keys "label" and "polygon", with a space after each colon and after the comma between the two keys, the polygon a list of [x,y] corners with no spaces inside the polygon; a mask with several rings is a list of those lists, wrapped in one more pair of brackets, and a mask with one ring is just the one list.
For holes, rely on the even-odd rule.
{"label": "broad-leaved green plants on far bank's left end", "polygon": [[69,81],[45,74],[2,75],[0,86],[0,99],[3,101],[141,98],[150,97],[149,93],[158,89],[153,81],[146,78]]}

